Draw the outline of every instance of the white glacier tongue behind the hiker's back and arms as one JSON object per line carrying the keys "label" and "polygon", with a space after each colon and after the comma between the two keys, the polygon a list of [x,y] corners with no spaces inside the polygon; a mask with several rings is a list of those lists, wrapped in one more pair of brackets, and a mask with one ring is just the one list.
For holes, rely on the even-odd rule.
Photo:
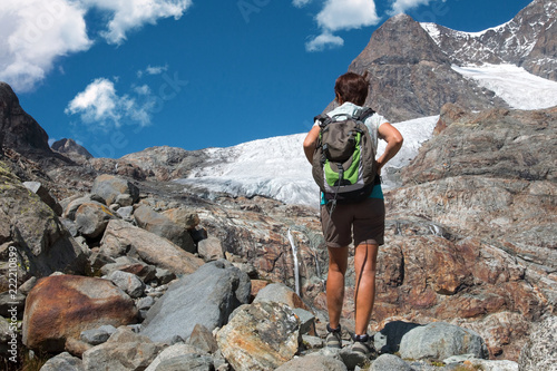
{"label": "white glacier tongue behind the hiker's back and arms", "polygon": [[[439,116],[393,124],[404,137],[399,154],[383,169],[383,187],[397,186],[395,174],[418,155],[421,144],[431,137]],[[213,164],[193,169],[187,178],[177,179],[208,198],[221,193],[234,197],[255,195],[286,204],[319,206],[319,187],[312,177],[311,164],[303,152],[306,133],[258,139],[226,148],[208,148]],[[378,153],[385,143],[379,141]]]}

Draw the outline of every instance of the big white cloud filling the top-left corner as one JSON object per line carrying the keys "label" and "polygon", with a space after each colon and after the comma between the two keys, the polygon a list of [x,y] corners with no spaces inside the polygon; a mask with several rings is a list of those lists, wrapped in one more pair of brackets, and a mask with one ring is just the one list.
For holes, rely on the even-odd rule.
{"label": "big white cloud filling the top-left corner", "polygon": [[89,49],[84,13],[67,0],[0,1],[0,80],[31,90],[57,57]]}

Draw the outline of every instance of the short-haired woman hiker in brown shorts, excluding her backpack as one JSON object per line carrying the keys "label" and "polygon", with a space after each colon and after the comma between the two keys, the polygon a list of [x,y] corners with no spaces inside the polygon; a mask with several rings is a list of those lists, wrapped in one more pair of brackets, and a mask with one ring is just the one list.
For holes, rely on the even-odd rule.
{"label": "short-haired woman hiker in brown shorts, excluding her backpack", "polygon": [[[367,72],[364,76],[354,72],[340,76],[334,86],[335,100],[339,107],[330,111],[328,116],[355,116],[358,111],[361,111],[368,91]],[[379,178],[381,168],[399,152],[403,138],[397,128],[377,113],[367,117],[364,124],[370,133],[375,152],[378,138],[387,141],[384,153],[377,158],[377,177]],[[320,131],[321,127],[315,121],[303,144],[305,156],[310,163],[313,163]],[[326,345],[330,348],[342,346],[340,320],[344,301],[344,277],[348,267],[349,245],[353,242],[355,246],[353,350],[365,355],[369,355],[372,351],[368,325],[375,296],[378,250],[383,244],[384,234],[384,201],[381,182],[378,180],[368,198],[358,203],[338,203],[334,206],[334,212],[331,212],[331,207],[328,206],[323,193],[321,197],[321,223],[329,250]]]}

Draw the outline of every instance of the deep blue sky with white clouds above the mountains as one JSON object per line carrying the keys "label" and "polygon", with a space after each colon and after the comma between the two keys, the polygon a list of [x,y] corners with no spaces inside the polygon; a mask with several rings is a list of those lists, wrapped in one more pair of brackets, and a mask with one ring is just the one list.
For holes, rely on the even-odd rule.
{"label": "deep blue sky with white clouds above the mountains", "polygon": [[389,17],[481,31],[529,0],[0,0],[0,80],[96,157],[306,131]]}

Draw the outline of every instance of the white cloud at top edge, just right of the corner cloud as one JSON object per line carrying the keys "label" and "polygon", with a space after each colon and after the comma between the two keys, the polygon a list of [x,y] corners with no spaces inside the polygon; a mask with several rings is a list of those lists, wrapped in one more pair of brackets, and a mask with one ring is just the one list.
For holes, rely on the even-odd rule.
{"label": "white cloud at top edge, just right of the corner cloud", "polygon": [[179,19],[192,6],[192,0],[79,0],[88,8],[113,13],[107,31],[101,36],[109,42],[120,45],[126,33],[145,23],[155,25],[159,18]]}

